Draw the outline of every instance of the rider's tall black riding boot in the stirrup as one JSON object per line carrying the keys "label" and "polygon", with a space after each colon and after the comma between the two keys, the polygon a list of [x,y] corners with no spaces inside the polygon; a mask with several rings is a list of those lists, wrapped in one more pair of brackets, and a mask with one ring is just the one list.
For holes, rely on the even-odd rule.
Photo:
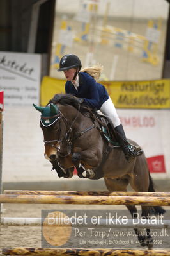
{"label": "rider's tall black riding boot in the stirrup", "polygon": [[114,130],[116,131],[116,137],[128,162],[131,162],[135,157],[143,154],[143,150],[140,147],[135,148],[127,141],[122,124],[114,127]]}

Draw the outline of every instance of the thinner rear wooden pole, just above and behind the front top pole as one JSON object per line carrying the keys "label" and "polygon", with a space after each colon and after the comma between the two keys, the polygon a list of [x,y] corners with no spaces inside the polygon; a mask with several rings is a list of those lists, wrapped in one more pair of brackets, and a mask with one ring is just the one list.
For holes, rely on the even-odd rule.
{"label": "thinner rear wooden pole, just above and behind the front top pole", "polygon": [[58,196],[156,196],[170,197],[170,192],[125,192],[125,191],[31,191],[31,190],[4,190],[4,194],[39,194],[39,195],[58,195]]}

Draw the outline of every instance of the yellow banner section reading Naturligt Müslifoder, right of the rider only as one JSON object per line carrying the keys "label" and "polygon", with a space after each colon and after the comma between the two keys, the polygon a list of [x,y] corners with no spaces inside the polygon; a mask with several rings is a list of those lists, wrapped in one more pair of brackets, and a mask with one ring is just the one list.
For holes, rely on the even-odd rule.
{"label": "yellow banner section reading Naturligt M\u00fcslifoder, right of the rider only", "polygon": [[103,84],[117,108],[170,108],[170,80]]}

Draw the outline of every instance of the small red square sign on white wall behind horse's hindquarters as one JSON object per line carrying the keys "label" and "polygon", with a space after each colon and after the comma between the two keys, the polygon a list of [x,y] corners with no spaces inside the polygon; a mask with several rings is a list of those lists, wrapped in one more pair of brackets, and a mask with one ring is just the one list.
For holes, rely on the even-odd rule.
{"label": "small red square sign on white wall behind horse's hindquarters", "polygon": [[147,158],[150,173],[166,173],[164,155]]}

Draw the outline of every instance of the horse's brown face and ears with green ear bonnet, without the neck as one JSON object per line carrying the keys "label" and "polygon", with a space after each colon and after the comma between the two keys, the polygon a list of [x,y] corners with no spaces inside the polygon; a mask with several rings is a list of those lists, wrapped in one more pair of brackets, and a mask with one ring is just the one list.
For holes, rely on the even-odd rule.
{"label": "horse's brown face and ears with green ear bonnet, without the neck", "polygon": [[45,144],[45,158],[51,162],[56,160],[57,150],[61,136],[61,112],[54,103],[48,104],[46,107],[40,107],[33,104],[36,110],[41,114],[40,127],[43,131],[43,138]]}

